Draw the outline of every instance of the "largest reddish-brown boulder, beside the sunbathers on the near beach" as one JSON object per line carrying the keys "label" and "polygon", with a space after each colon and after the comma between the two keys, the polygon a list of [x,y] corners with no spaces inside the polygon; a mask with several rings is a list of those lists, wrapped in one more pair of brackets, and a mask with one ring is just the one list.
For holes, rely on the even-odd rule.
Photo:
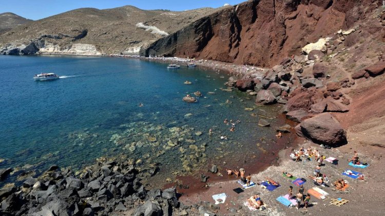
{"label": "largest reddish-brown boulder, beside the sunbathers on the near beach", "polygon": [[345,130],[327,112],[302,121],[300,127],[302,134],[315,143],[336,146],[347,142]]}

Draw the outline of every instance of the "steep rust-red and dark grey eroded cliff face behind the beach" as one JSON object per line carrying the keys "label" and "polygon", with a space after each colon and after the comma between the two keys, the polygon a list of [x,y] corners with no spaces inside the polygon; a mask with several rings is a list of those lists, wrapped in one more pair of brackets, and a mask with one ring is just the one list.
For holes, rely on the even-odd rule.
{"label": "steep rust-red and dark grey eroded cliff face behind the beach", "polygon": [[357,0],[261,0],[227,6],[141,50],[165,55],[273,66],[307,43],[353,27],[376,7]]}

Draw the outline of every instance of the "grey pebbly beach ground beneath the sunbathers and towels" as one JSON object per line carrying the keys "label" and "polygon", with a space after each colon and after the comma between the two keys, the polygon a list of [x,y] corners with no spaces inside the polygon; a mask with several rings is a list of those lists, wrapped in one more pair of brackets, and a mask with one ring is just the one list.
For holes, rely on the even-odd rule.
{"label": "grey pebbly beach ground beneath the sunbathers and towels", "polygon": [[[305,178],[307,180],[304,184],[305,192],[312,187],[316,187],[313,180],[308,177],[308,175],[313,175],[316,162],[314,160],[305,162],[292,161],[288,157],[288,154],[290,154],[293,148],[280,151],[280,163],[278,166],[269,166],[265,170],[252,175],[252,181],[255,182],[265,180],[265,176],[278,181],[281,186],[274,191],[268,191],[257,185],[237,194],[233,191],[233,189],[240,187],[240,185],[236,182],[235,176],[229,176],[230,180],[209,184],[209,188],[205,191],[196,194],[188,194],[188,196],[182,195],[180,201],[185,205],[191,205],[199,201],[214,203],[213,198],[211,198],[212,195],[226,193],[227,198],[225,203],[218,204],[220,206],[219,211],[217,211],[218,215],[234,215],[234,213],[232,213],[232,208],[237,209],[237,213],[235,215],[301,215],[315,213],[321,213],[322,215],[383,215],[383,210],[385,210],[385,208],[381,204],[382,194],[379,192],[379,188],[385,187],[385,182],[383,180],[385,172],[384,170],[381,170],[381,167],[385,165],[385,162],[381,159],[381,151],[378,151],[382,149],[378,148],[374,149],[374,151],[362,152],[360,154],[361,160],[369,163],[370,166],[365,169],[358,169],[348,165],[349,162],[347,162],[347,159],[352,156],[352,153],[350,153],[352,150],[350,149],[351,147],[349,144],[340,148],[323,149],[318,145],[301,139],[297,140],[297,143],[300,143],[298,146],[303,146],[305,148],[308,146],[317,148],[320,153],[326,155],[326,157],[333,156],[339,160],[338,165],[325,162],[325,165],[321,167],[321,173],[325,173],[330,178],[328,183],[330,187],[320,188],[328,192],[330,195],[327,195],[325,200],[318,200],[312,197],[311,203],[315,202],[317,204],[312,205],[307,210],[303,208],[297,210],[294,207],[285,207],[276,201],[276,198],[280,195],[287,194],[289,186],[294,187],[294,194],[298,192],[298,187],[292,184],[291,180],[285,178],[282,175],[282,171],[290,172],[297,178]],[[294,149],[298,150],[298,147]],[[365,176],[365,179],[353,180],[344,176],[341,173],[345,169],[359,171]],[[332,185],[333,182],[339,178],[343,178],[349,182],[349,192],[332,190],[332,188],[335,188]],[[263,202],[267,205],[266,210],[253,212],[243,205],[243,203],[254,194],[260,195]],[[349,200],[350,203],[341,207],[330,206],[329,204],[331,199],[337,198]]]}

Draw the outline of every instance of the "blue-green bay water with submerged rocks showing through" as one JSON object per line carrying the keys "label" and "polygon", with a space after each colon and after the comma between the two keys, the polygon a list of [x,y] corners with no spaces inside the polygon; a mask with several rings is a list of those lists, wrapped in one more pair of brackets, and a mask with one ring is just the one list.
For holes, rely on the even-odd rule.
{"label": "blue-green bay water with submerged rocks showing through", "polygon": [[[5,160],[0,168],[81,168],[103,155],[125,154],[171,172],[181,170],[192,154],[192,169],[220,163],[235,150],[258,154],[256,142],[274,131],[258,127],[258,117],[251,114],[265,110],[269,115],[272,107],[258,110],[251,96],[220,90],[227,76],[201,68],[168,70],[166,65],[109,57],[0,56],[0,159]],[[33,81],[40,72],[61,78]],[[186,80],[192,85],[183,84]],[[197,90],[206,98],[182,101]],[[241,121],[236,132],[223,124],[226,118]]]}

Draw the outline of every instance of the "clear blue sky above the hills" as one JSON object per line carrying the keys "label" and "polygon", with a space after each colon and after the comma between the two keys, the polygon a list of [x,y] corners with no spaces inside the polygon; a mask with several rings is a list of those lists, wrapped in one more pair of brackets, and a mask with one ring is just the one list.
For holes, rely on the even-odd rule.
{"label": "clear blue sky above the hills", "polygon": [[116,8],[132,5],[141,9],[183,11],[202,7],[236,5],[246,0],[0,0],[0,13],[12,12],[29,19],[41,19],[78,8]]}

